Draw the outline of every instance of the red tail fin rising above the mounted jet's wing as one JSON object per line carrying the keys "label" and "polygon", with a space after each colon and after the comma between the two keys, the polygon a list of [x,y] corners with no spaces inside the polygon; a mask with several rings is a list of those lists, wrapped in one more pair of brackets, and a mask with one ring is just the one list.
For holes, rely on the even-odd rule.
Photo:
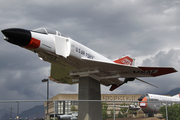
{"label": "red tail fin rising above the mounted jet's wing", "polygon": [[119,58],[117,60],[114,60],[115,63],[123,64],[123,65],[133,65],[134,59],[130,58],[129,56],[125,56],[122,58]]}

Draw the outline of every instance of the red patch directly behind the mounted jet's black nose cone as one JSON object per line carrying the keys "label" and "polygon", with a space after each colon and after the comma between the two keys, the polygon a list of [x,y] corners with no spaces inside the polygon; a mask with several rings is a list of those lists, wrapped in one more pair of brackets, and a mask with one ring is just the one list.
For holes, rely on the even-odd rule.
{"label": "red patch directly behind the mounted jet's black nose cone", "polygon": [[36,49],[40,46],[40,40],[31,38],[30,43],[26,46],[27,49]]}

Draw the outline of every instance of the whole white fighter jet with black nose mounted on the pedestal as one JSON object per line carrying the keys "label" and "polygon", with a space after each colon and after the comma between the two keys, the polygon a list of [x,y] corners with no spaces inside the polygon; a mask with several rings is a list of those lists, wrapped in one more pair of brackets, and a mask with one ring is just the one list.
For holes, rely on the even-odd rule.
{"label": "whole white fighter jet with black nose mounted on the pedestal", "polygon": [[79,77],[90,76],[105,86],[111,85],[112,91],[128,81],[140,80],[137,77],[177,72],[172,67],[135,67],[129,56],[112,61],[55,30],[10,28],[2,33],[4,40],[31,50],[50,62],[49,78],[57,83],[75,84]]}

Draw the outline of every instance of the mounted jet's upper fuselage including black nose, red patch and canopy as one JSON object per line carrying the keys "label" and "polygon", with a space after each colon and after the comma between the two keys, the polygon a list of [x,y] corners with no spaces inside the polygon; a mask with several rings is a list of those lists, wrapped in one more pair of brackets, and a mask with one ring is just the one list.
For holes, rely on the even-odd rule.
{"label": "mounted jet's upper fuselage including black nose, red patch and canopy", "polygon": [[[65,58],[75,57],[81,59],[85,57],[88,59],[112,62],[110,59],[55,30],[45,28],[32,31],[24,29],[6,29],[2,32],[6,35],[5,40],[8,42],[35,52],[40,53],[43,51],[54,56],[59,55]],[[16,33],[16,36],[12,33]],[[17,37],[17,39],[15,39],[15,37]],[[24,42],[24,44],[22,44],[22,42]]]}

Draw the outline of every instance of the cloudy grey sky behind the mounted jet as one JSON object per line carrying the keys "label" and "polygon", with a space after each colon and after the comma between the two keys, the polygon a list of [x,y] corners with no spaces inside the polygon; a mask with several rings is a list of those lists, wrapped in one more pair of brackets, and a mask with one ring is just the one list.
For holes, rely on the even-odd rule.
{"label": "cloudy grey sky behind the mounted jet", "polygon": [[[135,58],[136,66],[174,67],[180,71],[179,0],[1,0],[0,30],[47,27],[58,30],[114,60]],[[3,40],[0,33],[0,100],[45,100],[50,63]],[[179,72],[124,84],[102,94],[167,93],[180,87]],[[77,94],[78,84],[50,81],[50,98]]]}

